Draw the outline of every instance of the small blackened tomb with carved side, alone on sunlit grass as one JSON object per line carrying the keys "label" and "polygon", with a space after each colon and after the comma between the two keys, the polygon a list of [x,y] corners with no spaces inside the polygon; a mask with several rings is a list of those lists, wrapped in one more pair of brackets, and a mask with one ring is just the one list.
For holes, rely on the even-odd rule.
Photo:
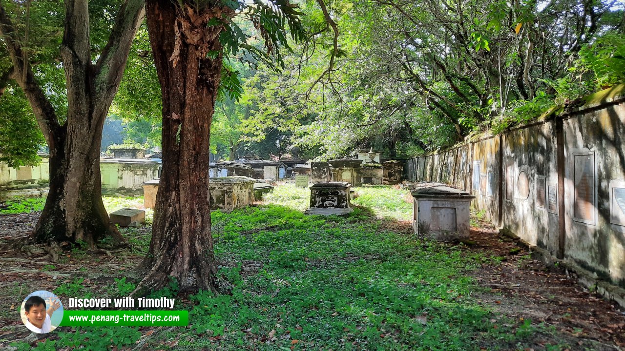
{"label": "small blackened tomb with carved side, alone on sunlit grass", "polygon": [[349,187],[347,182],[319,182],[311,189],[311,203],[306,214],[344,215],[352,212],[349,206]]}

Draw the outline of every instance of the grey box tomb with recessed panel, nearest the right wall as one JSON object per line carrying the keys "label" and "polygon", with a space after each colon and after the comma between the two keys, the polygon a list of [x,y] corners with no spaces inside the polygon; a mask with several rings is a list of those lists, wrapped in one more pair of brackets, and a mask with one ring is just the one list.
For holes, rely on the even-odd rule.
{"label": "grey box tomb with recessed panel, nearest the right wall", "polygon": [[447,184],[419,182],[411,186],[415,234],[439,241],[469,237],[469,207],[475,196]]}

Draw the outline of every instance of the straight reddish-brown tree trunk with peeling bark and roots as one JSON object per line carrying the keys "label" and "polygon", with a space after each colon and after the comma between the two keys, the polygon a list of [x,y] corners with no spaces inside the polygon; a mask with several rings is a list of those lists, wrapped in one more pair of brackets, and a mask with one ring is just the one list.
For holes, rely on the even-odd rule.
{"label": "straight reddish-brown tree trunk with peeling bark and roots", "polygon": [[[210,7],[194,12],[201,17],[220,11],[232,12]],[[163,172],[149,254],[142,264],[146,276],[135,294],[159,289],[170,277],[178,280],[181,290],[216,287],[208,156],[211,119],[221,79],[222,27],[207,27],[210,15],[202,21],[189,21],[188,16],[188,7],[179,9],[171,0],[148,0],[146,4],[163,99]],[[179,52],[174,54],[174,48]],[[211,59],[208,51],[219,55]]]}

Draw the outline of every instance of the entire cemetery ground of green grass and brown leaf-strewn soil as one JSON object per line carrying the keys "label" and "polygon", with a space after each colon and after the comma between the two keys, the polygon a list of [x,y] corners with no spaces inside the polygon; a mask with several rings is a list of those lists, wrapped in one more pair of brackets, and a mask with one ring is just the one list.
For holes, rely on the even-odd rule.
{"label": "entire cemetery ground of green grass and brown leaf-strewn soil", "polygon": [[[176,294],[188,327],[60,327],[39,337],[19,320],[33,290],[118,297],[134,289],[149,246],[144,227],[121,229],[132,250],[76,248],[56,261],[8,243],[32,229],[42,199],[0,215],[0,347],[12,350],[622,350],[625,315],[558,267],[472,219],[471,242],[412,234],[411,197],[357,187],[345,217],[306,216],[309,190],[280,184],[263,202],[212,212],[221,279],[231,294]],[[105,197],[109,212],[141,198]],[[31,212],[34,211],[34,212]],[[12,213],[11,213],[12,212]]]}

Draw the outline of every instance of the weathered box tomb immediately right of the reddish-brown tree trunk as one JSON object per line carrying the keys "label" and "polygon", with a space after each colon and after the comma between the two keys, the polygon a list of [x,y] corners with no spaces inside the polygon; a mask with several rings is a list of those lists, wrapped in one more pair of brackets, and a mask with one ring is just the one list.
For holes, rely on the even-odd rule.
{"label": "weathered box tomb immediately right of the reddish-brown tree trunk", "polygon": [[211,209],[231,211],[254,203],[255,179],[249,177],[219,177],[209,180]]}

